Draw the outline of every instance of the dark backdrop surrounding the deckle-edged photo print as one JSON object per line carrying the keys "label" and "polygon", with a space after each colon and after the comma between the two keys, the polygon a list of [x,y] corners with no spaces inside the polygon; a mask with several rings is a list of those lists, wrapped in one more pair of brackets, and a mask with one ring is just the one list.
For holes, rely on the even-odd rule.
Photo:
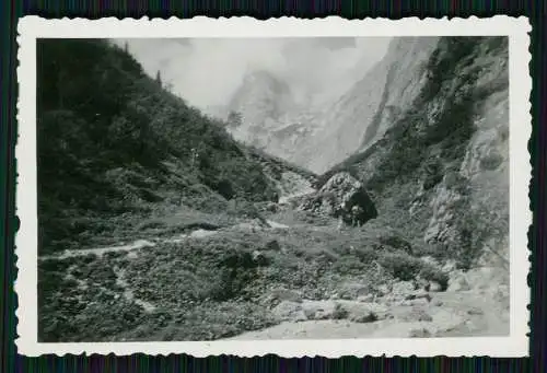
{"label": "dark backdrop surrounding the deckle-edged photo print", "polygon": [[[0,372],[546,372],[545,351],[547,343],[546,325],[546,290],[547,285],[545,223],[545,161],[547,160],[546,121],[547,121],[547,19],[545,1],[523,0],[393,0],[393,1],[341,1],[319,0],[310,2],[296,1],[174,1],[174,0],[95,0],[95,1],[48,1],[22,0],[0,2],[0,289],[2,323],[0,334]],[[275,355],[243,359],[236,357],[211,357],[195,359],[188,355],[130,357],[115,355],[43,355],[25,358],[18,354],[14,339],[16,337],[18,307],[13,282],[18,276],[14,256],[14,235],[19,226],[15,211],[15,159],[16,141],[16,97],[18,77],[16,25],[19,18],[40,15],[55,18],[170,18],[182,19],[197,15],[237,16],[247,15],[260,20],[278,16],[323,18],[341,15],[347,19],[405,16],[492,16],[508,14],[525,15],[533,26],[531,33],[529,65],[533,77],[531,96],[533,115],[533,133],[528,149],[532,154],[533,180],[529,188],[531,206],[534,211],[534,224],[528,231],[533,273],[528,277],[532,292],[531,308],[531,358],[528,359],[491,359],[476,358],[363,358],[346,357],[325,359],[321,357],[302,359],[280,359]]]}

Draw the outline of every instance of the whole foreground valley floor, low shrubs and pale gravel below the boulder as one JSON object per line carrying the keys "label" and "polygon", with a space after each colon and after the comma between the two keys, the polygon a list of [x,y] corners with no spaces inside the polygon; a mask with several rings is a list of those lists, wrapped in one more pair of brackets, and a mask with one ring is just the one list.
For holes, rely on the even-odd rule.
{"label": "whole foreground valley floor, low shrubs and pale gravel below the boulder", "polygon": [[40,340],[509,333],[499,270],[443,268],[396,232],[340,232],[334,220],[293,210],[203,221],[175,212],[113,246],[43,256]]}

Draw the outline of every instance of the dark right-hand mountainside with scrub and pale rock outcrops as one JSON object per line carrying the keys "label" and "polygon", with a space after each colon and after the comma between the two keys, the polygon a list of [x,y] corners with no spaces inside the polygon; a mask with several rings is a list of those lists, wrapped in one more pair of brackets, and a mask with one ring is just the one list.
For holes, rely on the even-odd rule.
{"label": "dark right-hand mountainside with scrub and pale rock outcrops", "polygon": [[507,264],[508,57],[503,37],[440,38],[426,69],[407,70],[421,74],[419,89],[389,92],[403,97],[398,113],[379,109],[370,145],[322,183],[349,171],[365,180],[379,215],[432,254],[463,267],[485,253]]}

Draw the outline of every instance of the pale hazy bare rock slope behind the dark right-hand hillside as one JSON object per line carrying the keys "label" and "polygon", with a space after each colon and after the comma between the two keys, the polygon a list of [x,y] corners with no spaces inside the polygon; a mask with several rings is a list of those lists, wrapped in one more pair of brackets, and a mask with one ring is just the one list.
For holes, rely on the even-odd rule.
{"label": "pale hazy bare rock slope behind the dark right-hand hillside", "polygon": [[437,39],[392,40],[385,57],[318,117],[324,123],[322,130],[293,161],[315,172],[325,172],[382,136],[391,118],[405,110],[423,85],[424,62]]}

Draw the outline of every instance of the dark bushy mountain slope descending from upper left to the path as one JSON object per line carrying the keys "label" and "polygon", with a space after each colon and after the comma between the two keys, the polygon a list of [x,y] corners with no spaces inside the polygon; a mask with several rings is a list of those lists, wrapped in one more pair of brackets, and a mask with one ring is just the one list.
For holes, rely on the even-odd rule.
{"label": "dark bushy mountain slope descending from upper left to the path", "polygon": [[279,198],[268,158],[257,162],[224,123],[166,92],[107,42],[40,40],[37,81],[43,249],[81,244],[128,220],[108,217],[159,206],[219,212],[236,197]]}

